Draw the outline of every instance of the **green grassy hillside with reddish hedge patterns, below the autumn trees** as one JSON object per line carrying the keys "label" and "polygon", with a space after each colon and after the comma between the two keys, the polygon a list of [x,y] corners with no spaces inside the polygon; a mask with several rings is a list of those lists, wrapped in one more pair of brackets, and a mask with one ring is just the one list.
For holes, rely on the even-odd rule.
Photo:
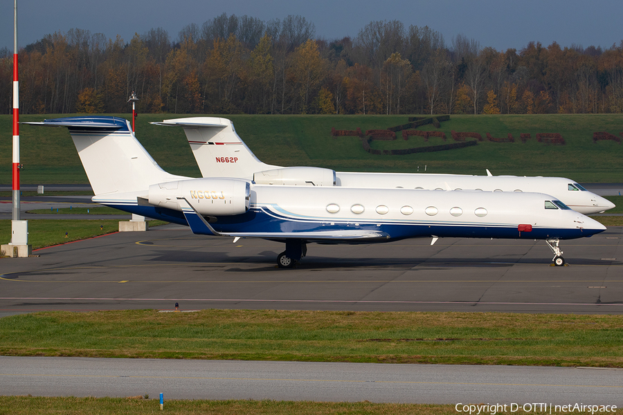
{"label": "green grassy hillside with reddish hedge patterns, below the autumn trees", "polygon": [[[129,118],[129,114],[117,114]],[[21,116],[22,122],[59,116]],[[199,177],[199,169],[181,128],[149,124],[179,114],[141,114],[136,119],[136,136],[163,169],[174,174]],[[385,156],[368,154],[357,137],[331,135],[336,129],[386,129],[407,122],[407,116],[227,116],[237,133],[258,158],[275,165],[312,165],[340,171],[426,172],[565,176],[580,182],[623,182],[623,145],[614,141],[593,143],[593,132],[623,131],[623,115],[532,115],[451,116],[442,122],[447,143],[450,131],[473,131],[515,142],[479,142],[464,149]],[[0,116],[0,183],[11,183],[11,116]],[[433,125],[419,127],[437,131]],[[520,133],[530,133],[525,143]],[[566,145],[536,142],[536,133],[560,133]],[[373,141],[377,149],[402,149],[442,144],[441,138],[421,137]],[[20,127],[21,183],[88,183],[69,133],[64,128]],[[485,138],[486,140],[486,138]]]}

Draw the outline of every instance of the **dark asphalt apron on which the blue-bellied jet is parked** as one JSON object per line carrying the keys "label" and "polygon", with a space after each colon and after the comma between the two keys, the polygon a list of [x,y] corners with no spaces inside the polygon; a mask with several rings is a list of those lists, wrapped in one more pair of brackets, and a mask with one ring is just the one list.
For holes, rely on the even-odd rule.
{"label": "dark asphalt apron on which the blue-bellied jet is parked", "polygon": [[409,239],[309,244],[296,269],[282,243],[164,225],[0,259],[0,315],[39,310],[279,308],[623,313],[623,228],[562,241]]}

